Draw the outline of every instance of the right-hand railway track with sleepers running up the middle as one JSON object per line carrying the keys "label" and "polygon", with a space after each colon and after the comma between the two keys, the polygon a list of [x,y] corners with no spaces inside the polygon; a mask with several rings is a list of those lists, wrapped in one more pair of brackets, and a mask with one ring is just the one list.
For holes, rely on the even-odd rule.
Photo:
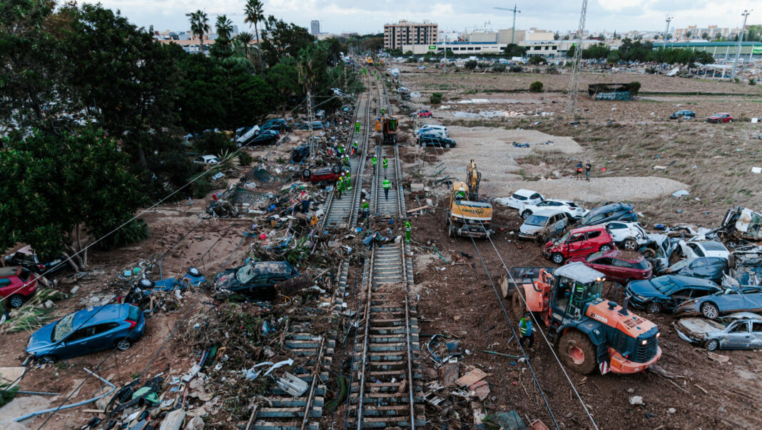
{"label": "right-hand railway track with sleepers running up the middle", "polygon": [[[379,101],[391,112],[386,89]],[[380,140],[379,140],[380,142]],[[399,149],[389,168],[381,160],[386,149],[379,143],[379,160],[373,171],[371,205],[375,217],[405,218]],[[383,196],[383,178],[394,181],[389,198]],[[364,309],[357,327],[350,395],[350,415],[345,425],[359,428],[424,425],[424,393],[421,387],[420,345],[415,305],[409,298],[414,284],[412,253],[404,241],[370,249],[363,268]]]}

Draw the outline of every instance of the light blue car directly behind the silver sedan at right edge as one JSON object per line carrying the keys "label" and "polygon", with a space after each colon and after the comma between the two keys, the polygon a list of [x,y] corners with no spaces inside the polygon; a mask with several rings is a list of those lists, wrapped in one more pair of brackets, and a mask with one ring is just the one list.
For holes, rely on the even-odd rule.
{"label": "light blue car directly behind the silver sedan at right edge", "polygon": [[735,312],[762,312],[762,287],[734,287],[725,291],[688,300],[674,310],[676,316],[701,315],[717,319]]}

